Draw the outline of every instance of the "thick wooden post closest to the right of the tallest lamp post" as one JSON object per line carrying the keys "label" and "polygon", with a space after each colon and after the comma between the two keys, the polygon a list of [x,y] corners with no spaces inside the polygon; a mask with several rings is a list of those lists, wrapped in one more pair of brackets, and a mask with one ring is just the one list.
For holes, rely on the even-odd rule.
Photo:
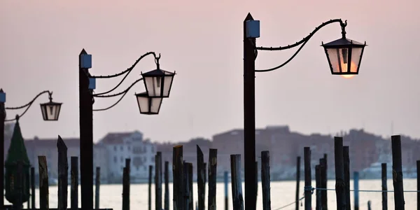
{"label": "thick wooden post closest to the right of the tallest lamp post", "polygon": [[270,184],[269,184],[269,151],[261,152],[261,188],[262,209],[271,210]]}

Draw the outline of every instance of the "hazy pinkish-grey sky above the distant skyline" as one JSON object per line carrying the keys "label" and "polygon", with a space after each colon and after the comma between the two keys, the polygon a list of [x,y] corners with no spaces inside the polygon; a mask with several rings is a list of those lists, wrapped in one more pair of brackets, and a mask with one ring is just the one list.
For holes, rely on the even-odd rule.
{"label": "hazy pinkish-grey sky above the distant skyline", "polygon": [[[341,37],[339,24],[318,31],[302,51],[276,71],[256,73],[256,127],[289,125],[303,134],[364,128],[388,136],[420,138],[420,1],[239,1],[90,0],[0,2],[0,87],[6,106],[21,106],[51,90],[64,103],[57,122],[42,120],[38,104],[20,119],[31,139],[78,137],[78,55],[92,54],[93,75],[124,71],[146,52],[161,53],[160,66],[176,71],[171,95],[158,116],[139,113],[135,92],[109,111],[94,112],[94,141],[108,132],[139,130],[152,141],[193,137],[242,128],[243,21],[260,20],[257,45],[300,41],[330,19],[348,20],[346,36],[367,41],[360,74],[332,76],[321,41]],[[278,66],[296,49],[259,52],[256,69]],[[145,58],[116,92],[141,72],[155,68]],[[120,78],[97,79],[95,92]],[[94,109],[118,100],[95,99]],[[8,111],[8,118],[20,113]],[[391,132],[393,122],[393,132]]]}

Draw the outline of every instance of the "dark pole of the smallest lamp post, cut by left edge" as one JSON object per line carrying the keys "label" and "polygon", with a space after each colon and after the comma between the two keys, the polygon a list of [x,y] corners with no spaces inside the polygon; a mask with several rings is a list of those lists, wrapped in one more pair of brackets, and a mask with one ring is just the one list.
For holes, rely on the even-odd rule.
{"label": "dark pole of the smallest lamp post, cut by left edge", "polygon": [[[3,89],[0,89],[0,94],[3,94]],[[6,107],[4,102],[0,102],[0,208],[3,209],[4,206],[4,120],[6,120]]]}

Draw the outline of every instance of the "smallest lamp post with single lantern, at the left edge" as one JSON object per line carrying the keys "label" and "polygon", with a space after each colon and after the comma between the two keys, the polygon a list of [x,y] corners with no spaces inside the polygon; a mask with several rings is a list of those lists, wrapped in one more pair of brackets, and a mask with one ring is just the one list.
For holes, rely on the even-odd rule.
{"label": "smallest lamp post with single lantern, at the left edge", "polygon": [[[45,90],[43,92],[40,92],[39,94],[34,97],[29,103],[25,104],[24,106],[18,106],[18,107],[6,107],[6,92],[3,92],[3,89],[0,89],[0,208],[3,208],[4,202],[4,123],[9,121],[18,120],[21,118],[25,113],[28,111],[29,107],[31,107],[32,104],[34,104],[35,100],[40,97],[42,94],[48,93],[48,98],[50,99],[50,102],[40,104],[41,105],[41,113],[43,116],[43,120],[45,121],[56,121],[59,117],[59,111],[61,109],[62,103],[56,103],[52,102],[52,92]],[[25,109],[26,108],[26,109]],[[11,110],[18,110],[18,109],[25,109],[22,114],[16,116],[15,119],[6,120],[6,109]]]}

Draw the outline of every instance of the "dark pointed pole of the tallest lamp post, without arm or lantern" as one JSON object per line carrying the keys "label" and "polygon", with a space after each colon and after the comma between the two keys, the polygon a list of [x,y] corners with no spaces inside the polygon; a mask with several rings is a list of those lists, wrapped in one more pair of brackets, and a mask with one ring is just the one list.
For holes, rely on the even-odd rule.
{"label": "dark pointed pole of the tallest lamp post, without arm or lantern", "polygon": [[245,207],[255,210],[255,38],[246,38],[246,21],[253,20],[251,13],[244,20],[244,165]]}

